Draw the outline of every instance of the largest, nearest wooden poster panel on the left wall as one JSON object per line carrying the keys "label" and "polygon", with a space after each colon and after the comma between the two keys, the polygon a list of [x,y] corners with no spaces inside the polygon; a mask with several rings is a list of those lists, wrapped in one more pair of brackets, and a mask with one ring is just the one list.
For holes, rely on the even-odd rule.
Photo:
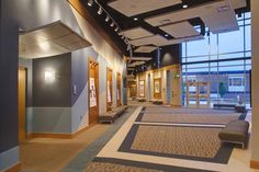
{"label": "largest, nearest wooden poster panel on the left wall", "polygon": [[89,125],[98,123],[99,116],[99,67],[89,60],[88,74]]}

